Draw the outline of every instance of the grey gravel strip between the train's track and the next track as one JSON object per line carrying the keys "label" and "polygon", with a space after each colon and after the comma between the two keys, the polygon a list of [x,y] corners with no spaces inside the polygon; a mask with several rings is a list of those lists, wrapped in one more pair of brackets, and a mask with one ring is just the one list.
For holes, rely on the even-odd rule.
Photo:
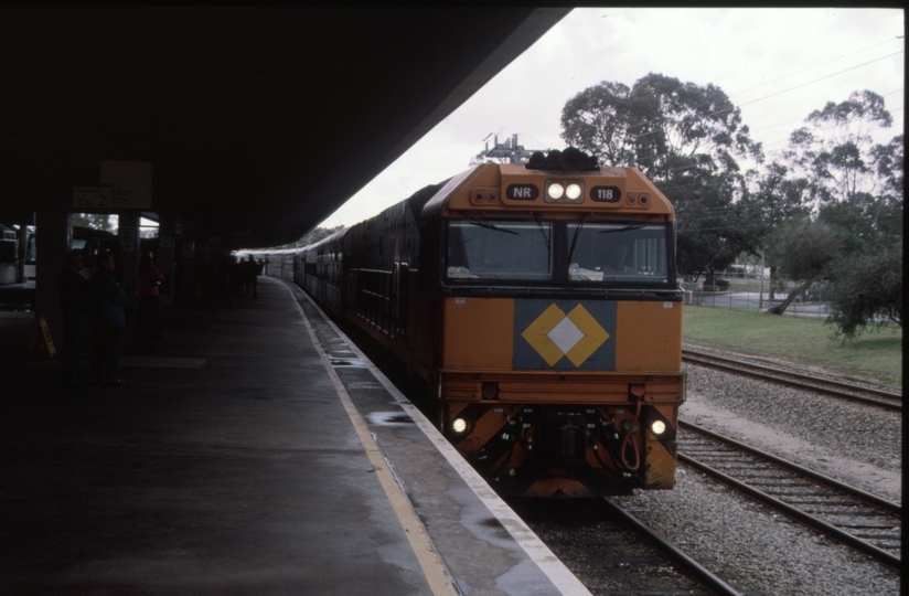
{"label": "grey gravel strip between the train's track and the next track", "polygon": [[749,596],[899,594],[899,576],[699,473],[674,491],[618,497],[703,566]]}

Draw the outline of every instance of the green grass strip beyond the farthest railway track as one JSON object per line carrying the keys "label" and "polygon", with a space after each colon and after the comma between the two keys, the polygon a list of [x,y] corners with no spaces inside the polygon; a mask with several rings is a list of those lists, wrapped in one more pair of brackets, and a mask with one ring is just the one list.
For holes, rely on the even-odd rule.
{"label": "green grass strip beyond the farthest railway track", "polygon": [[686,306],[682,337],[694,344],[835,369],[836,372],[902,386],[902,330],[871,331],[857,340],[833,338],[819,319]]}

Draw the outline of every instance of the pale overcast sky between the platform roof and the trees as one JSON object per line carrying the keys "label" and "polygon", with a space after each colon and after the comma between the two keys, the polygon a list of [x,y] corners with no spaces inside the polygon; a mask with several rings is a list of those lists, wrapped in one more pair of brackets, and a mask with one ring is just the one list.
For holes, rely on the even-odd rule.
{"label": "pale overcast sky between the platform roof and the trees", "polygon": [[903,34],[898,9],[576,9],[320,225],[353,225],[467,170],[492,135],[564,149],[568,99],[649,73],[720,87],[767,155],[827,102],[873,91],[894,117],[873,132],[887,142],[903,129]]}

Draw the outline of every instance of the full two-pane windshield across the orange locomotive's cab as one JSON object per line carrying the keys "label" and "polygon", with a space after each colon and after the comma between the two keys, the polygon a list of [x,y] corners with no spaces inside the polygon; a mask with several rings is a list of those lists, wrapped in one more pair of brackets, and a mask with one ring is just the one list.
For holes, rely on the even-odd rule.
{"label": "full two-pane windshield across the orange locomotive's cab", "polygon": [[445,270],[454,284],[665,286],[671,237],[665,224],[452,220]]}

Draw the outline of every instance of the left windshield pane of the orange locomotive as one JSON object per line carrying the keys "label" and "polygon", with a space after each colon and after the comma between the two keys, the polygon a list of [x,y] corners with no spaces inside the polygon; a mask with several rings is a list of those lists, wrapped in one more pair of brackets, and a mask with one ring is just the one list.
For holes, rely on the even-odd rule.
{"label": "left windshield pane of the orange locomotive", "polygon": [[553,276],[550,222],[449,223],[449,279],[548,280]]}

